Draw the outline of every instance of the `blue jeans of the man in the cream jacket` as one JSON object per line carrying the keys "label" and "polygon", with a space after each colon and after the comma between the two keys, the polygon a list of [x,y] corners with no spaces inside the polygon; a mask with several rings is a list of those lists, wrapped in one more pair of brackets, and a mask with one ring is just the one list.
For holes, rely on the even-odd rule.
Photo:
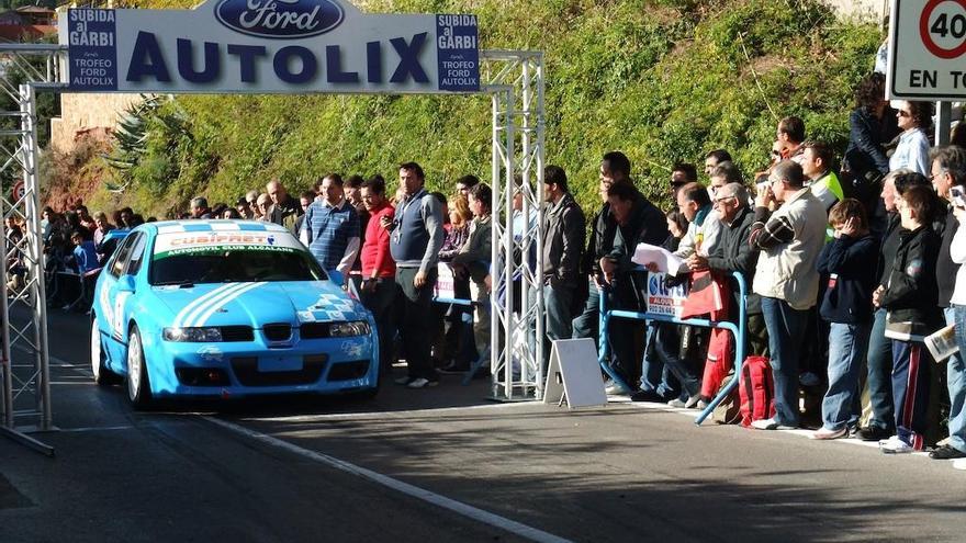
{"label": "blue jeans of the man in the cream jacket", "polygon": [[798,359],[808,310],[793,309],[784,299],[762,296],[768,329],[772,377],[775,381],[775,422],[798,426]]}

